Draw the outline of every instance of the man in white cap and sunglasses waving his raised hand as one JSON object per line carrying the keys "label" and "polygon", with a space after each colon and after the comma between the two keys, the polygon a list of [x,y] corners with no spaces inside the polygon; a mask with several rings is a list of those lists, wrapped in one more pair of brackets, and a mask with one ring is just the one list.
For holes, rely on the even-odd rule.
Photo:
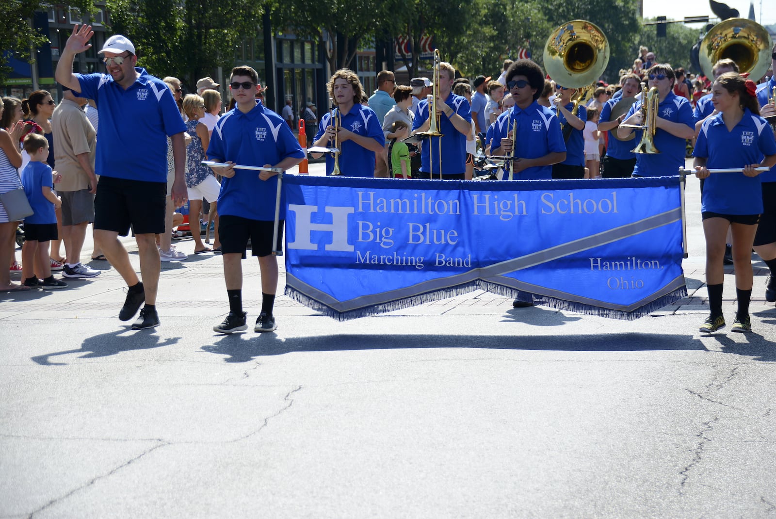
{"label": "man in white cap and sunglasses waving his raised hand", "polygon": [[[75,25],[57,64],[57,81],[99,107],[100,128],[95,174],[95,242],[129,289],[120,320],[130,320],[145,302],[133,330],[159,325],[156,294],[161,261],[154,240],[165,232],[167,137],[172,143],[175,182],[171,198],[181,206],[187,195],[183,174],[186,128],[172,92],[159,78],[135,67],[135,47],[126,36],[106,40],[99,54],[107,74],[74,74],[76,54],[92,47],[92,26]],[[129,254],[118,239],[133,228],[140,254],[137,277]]]}

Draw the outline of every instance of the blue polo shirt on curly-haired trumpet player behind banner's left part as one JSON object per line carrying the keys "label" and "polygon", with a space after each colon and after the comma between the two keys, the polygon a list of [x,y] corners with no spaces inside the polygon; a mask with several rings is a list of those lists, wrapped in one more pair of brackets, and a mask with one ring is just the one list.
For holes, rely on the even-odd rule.
{"label": "blue polo shirt on curly-haired trumpet player behind banner's left part", "polygon": [[[334,117],[338,109],[334,109]],[[376,140],[381,146],[385,145],[386,137],[383,133],[382,121],[377,120],[375,111],[369,106],[355,104],[348,113],[343,115],[340,124],[345,130]],[[320,139],[326,131],[326,126],[331,126],[329,113],[324,113],[318,123],[318,133],[313,141]],[[333,144],[333,143],[332,143]],[[375,176],[375,152],[361,147],[353,140],[345,140],[340,143],[339,167],[342,175],[346,177],[373,178]],[[334,157],[326,154],[326,175],[334,171]]]}

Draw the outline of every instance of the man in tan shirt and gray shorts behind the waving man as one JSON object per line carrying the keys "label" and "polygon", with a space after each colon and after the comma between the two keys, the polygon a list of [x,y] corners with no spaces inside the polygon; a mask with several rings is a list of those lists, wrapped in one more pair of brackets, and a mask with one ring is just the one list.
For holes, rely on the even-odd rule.
{"label": "man in tan shirt and gray shorts behind the waving man", "polygon": [[65,278],[95,278],[99,270],[81,263],[86,227],[95,219],[96,132],[84,112],[87,99],[76,97],[64,87],[63,99],[51,116],[54,134],[54,160],[61,182],[57,194],[62,198],[62,240],[67,259],[62,270]]}

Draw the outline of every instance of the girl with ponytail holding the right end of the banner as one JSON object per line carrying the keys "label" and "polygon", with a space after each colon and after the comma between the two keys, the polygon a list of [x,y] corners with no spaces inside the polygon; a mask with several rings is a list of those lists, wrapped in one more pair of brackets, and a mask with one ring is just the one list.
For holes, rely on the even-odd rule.
{"label": "girl with ponytail holding the right end of the banner", "polygon": [[[695,144],[695,175],[705,178],[702,196],[706,237],[706,286],[711,314],[701,325],[703,333],[725,326],[722,317],[722,258],[728,228],[733,233],[738,309],[733,331],[750,331],[752,295],[751,250],[757,222],[763,212],[760,171],[776,164],[776,141],[771,126],[760,117],[752,81],[735,72],[719,76],[712,88],[712,103],[719,112],[701,126]],[[763,158],[764,156],[764,158]],[[714,168],[742,168],[740,173],[709,174]]]}

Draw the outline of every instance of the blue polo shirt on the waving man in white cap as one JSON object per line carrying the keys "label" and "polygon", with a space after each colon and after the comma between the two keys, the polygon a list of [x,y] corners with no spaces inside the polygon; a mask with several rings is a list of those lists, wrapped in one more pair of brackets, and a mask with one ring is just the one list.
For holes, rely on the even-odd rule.
{"label": "blue polo shirt on the waving man in white cap", "polygon": [[97,103],[102,133],[95,173],[144,182],[167,182],[167,137],[186,130],[175,98],[144,68],[124,90],[109,74],[75,74],[80,97]]}

